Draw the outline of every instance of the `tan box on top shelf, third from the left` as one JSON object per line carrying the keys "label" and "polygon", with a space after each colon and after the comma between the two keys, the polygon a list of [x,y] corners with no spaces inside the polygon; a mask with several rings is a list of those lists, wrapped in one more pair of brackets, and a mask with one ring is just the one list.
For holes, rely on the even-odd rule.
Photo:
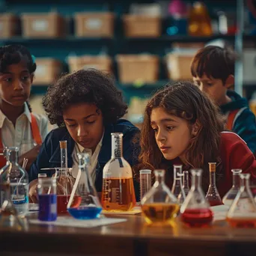
{"label": "tan box on top shelf, third from the left", "polygon": [[77,37],[113,37],[113,13],[76,13]]}

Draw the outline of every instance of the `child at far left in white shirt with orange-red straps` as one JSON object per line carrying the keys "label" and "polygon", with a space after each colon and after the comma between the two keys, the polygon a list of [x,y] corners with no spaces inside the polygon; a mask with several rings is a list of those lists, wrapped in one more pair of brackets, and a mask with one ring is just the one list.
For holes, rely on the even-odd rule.
{"label": "child at far left in white shirt with orange-red straps", "polygon": [[[36,67],[24,46],[0,47],[0,150],[20,147],[19,163],[28,158],[28,169],[39,153],[48,126],[47,118],[31,113],[28,103]],[[0,167],[5,164],[6,159],[0,156]]]}

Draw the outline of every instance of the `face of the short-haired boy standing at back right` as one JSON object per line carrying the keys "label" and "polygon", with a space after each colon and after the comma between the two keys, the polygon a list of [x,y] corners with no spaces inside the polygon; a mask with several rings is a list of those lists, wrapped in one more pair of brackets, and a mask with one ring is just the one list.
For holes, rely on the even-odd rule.
{"label": "face of the short-haired boy standing at back right", "polygon": [[221,106],[225,103],[227,87],[223,85],[222,79],[209,78],[206,75],[193,77],[195,85],[198,85],[201,91],[204,91],[214,103]]}

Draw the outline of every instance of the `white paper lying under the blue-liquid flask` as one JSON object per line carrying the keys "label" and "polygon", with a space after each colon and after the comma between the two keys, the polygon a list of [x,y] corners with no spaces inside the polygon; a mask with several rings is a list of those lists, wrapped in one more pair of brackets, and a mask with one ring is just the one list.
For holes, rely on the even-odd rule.
{"label": "white paper lying under the blue-liquid flask", "polygon": [[73,219],[69,216],[60,216],[55,222],[42,222],[38,219],[30,219],[31,224],[40,225],[55,225],[64,227],[75,227],[75,228],[94,228],[103,225],[116,224],[121,222],[127,222],[127,219],[114,219],[114,218],[103,218],[103,219]]}

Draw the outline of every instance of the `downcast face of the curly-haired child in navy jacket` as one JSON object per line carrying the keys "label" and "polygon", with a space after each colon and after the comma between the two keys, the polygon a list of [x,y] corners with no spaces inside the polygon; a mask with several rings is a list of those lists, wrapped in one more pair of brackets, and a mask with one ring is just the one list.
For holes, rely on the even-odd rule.
{"label": "downcast face of the curly-haired child in navy jacket", "polygon": [[64,123],[76,143],[95,150],[103,136],[103,115],[94,104],[79,103],[63,112]]}

